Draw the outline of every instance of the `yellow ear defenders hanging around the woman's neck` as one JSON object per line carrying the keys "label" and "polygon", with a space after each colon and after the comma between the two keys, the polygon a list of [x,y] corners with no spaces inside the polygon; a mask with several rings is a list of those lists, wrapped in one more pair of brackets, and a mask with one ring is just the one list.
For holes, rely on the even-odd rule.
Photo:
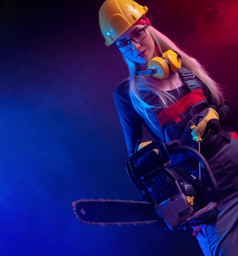
{"label": "yellow ear defenders hanging around the woman's neck", "polygon": [[137,75],[152,74],[157,79],[165,79],[181,67],[181,56],[177,52],[167,50],[162,56],[156,56],[148,62],[148,69],[136,72]]}

